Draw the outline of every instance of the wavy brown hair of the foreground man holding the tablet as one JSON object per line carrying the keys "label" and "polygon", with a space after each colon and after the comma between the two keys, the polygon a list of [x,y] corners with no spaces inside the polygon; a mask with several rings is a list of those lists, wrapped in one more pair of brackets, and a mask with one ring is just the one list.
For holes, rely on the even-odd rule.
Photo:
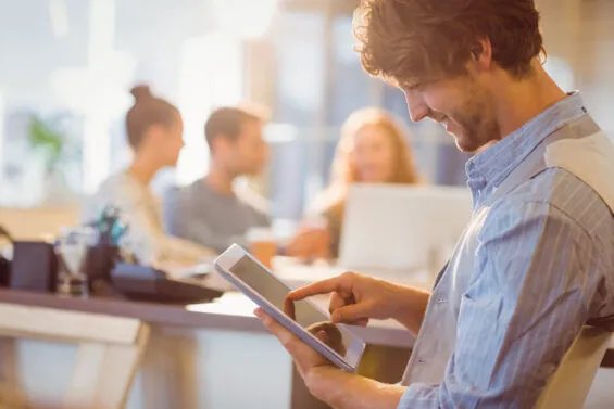
{"label": "wavy brown hair of the foreground man holding the tablet", "polygon": [[546,55],[534,0],[362,0],[354,35],[364,68],[396,85],[464,74],[481,38],[515,78]]}

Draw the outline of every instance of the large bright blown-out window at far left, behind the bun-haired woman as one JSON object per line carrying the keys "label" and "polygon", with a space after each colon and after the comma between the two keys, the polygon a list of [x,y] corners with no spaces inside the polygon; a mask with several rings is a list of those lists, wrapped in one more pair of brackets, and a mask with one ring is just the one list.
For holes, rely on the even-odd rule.
{"label": "large bright blown-out window at far left, behind the bun-haired woman", "polygon": [[[201,0],[2,2],[0,205],[75,204],[126,166],[129,89],[146,82],[178,103],[180,52],[211,30],[209,8]],[[71,170],[53,176],[54,189],[29,143],[34,116],[66,135]]]}

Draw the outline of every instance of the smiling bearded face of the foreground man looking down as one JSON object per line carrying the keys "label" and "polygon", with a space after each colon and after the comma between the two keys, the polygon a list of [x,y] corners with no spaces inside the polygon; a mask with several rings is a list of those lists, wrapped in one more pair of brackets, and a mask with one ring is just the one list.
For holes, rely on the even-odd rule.
{"label": "smiling bearded face of the foreground man looking down", "polygon": [[456,140],[462,152],[476,152],[501,139],[494,98],[484,75],[467,74],[403,87],[413,122],[429,117]]}

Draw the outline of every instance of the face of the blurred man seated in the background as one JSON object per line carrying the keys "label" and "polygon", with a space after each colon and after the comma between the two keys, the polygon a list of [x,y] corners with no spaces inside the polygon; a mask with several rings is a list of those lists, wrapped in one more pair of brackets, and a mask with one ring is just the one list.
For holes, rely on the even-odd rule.
{"label": "face of the blurred man seated in the background", "polygon": [[268,146],[262,139],[262,123],[247,120],[241,126],[241,133],[231,143],[229,162],[235,176],[259,175],[266,164]]}

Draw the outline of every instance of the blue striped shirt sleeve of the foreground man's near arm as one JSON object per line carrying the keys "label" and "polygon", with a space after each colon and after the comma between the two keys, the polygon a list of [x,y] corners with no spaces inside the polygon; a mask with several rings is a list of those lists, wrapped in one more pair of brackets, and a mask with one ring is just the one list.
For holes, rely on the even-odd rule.
{"label": "blue striped shirt sleeve of the foreground man's near arm", "polygon": [[589,317],[592,241],[561,210],[502,204],[478,242],[444,380],[411,384],[400,409],[532,408]]}

